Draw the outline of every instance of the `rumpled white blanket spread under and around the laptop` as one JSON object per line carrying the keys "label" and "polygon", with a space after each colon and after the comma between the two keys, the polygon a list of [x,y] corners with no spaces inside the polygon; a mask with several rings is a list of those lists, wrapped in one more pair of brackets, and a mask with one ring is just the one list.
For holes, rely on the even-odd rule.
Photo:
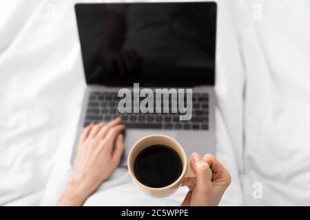
{"label": "rumpled white blanket spread under and around the laptop", "polygon": [[[54,205],[72,172],[85,89],[73,5],[1,1],[2,205]],[[217,156],[233,178],[222,205],[309,205],[309,8],[307,0],[218,1]],[[118,169],[85,205],[178,205],[185,192],[151,199]]]}

